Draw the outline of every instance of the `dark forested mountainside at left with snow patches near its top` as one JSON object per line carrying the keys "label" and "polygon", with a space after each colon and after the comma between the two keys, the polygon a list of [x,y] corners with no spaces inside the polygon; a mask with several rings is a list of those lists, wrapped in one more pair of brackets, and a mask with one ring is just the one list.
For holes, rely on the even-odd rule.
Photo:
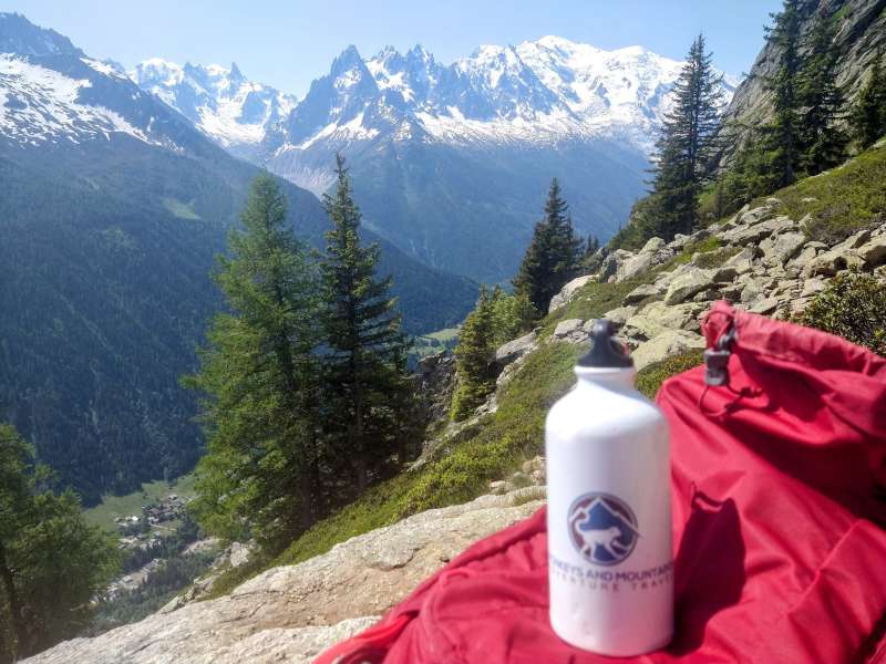
{"label": "dark forested mountainside at left with snow patches near its top", "polygon": [[[222,305],[214,257],[258,172],[113,63],[0,13],[0,421],[87,502],[199,456],[178,378]],[[319,200],[281,184],[293,229],[319,246]],[[473,305],[473,282],[364,239],[410,332]]]}

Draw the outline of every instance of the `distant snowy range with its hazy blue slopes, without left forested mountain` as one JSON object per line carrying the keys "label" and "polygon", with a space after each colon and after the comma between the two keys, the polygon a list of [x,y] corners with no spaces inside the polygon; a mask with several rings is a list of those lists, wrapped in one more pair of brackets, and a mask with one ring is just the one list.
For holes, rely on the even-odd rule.
{"label": "distant snowy range with its hazy blue slopes, without left forested mountain", "polygon": [[[427,266],[497,282],[513,276],[552,177],[581,234],[618,229],[681,64],[556,37],[449,65],[421,45],[368,60],[349,46],[297,103],[236,65],[153,59],[131,75],[220,145],[317,194],[341,152],[372,230]],[[721,90],[725,105],[734,81]]]}

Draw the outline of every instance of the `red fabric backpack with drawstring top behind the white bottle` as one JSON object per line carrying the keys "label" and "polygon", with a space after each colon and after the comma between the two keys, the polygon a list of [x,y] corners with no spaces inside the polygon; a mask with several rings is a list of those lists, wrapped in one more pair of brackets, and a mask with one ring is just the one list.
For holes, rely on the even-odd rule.
{"label": "red fabric backpack with drawstring top behind the white bottle", "polygon": [[[643,663],[886,662],[886,360],[720,302],[731,387],[669,380],[677,635]],[[552,632],[544,510],[318,664],[605,664]]]}

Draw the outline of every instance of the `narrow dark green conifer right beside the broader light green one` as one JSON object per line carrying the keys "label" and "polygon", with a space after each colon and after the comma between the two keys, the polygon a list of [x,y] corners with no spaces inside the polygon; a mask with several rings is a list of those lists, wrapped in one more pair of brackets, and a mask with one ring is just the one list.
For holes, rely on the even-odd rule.
{"label": "narrow dark green conifer right beside the broader light green one", "polygon": [[340,155],[336,179],[336,191],[323,196],[332,228],[326,234],[320,263],[327,347],[324,428],[362,491],[402,447],[398,423],[410,406],[391,395],[402,395],[408,380],[401,361],[406,342],[389,292],[391,279],[375,278],[379,246],[363,247],[360,241],[360,210]]}

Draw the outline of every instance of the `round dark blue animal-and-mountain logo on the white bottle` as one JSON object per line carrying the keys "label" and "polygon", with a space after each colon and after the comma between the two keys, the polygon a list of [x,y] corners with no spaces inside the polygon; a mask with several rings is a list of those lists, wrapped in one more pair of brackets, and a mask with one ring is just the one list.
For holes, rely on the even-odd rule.
{"label": "round dark blue animal-and-mountain logo on the white bottle", "polygon": [[568,521],[573,544],[595,564],[618,564],[640,537],[633,510],[610,494],[579,496],[569,508]]}

